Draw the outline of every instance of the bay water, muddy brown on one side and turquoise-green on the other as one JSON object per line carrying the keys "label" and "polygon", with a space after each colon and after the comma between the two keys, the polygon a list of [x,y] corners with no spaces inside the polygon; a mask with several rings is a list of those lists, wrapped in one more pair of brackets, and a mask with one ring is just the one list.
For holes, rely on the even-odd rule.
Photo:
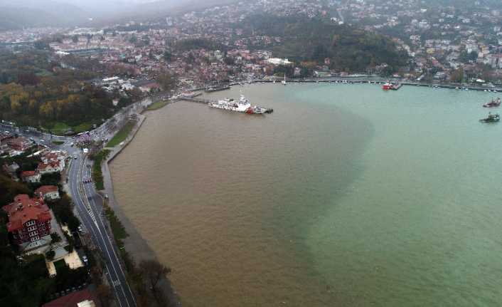
{"label": "bay water, muddy brown on one side and turquoise-green on the other", "polygon": [[502,306],[496,93],[237,85],[146,113],[110,165],[183,306]]}

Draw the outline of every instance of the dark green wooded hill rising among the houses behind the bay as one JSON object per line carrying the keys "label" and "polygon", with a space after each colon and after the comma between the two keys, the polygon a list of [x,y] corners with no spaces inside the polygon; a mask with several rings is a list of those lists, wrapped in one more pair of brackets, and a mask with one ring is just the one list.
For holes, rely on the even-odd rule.
{"label": "dark green wooded hill rising among the houses behind the bay", "polygon": [[365,71],[387,63],[396,70],[408,59],[407,53],[398,51],[386,36],[322,19],[257,15],[247,19],[245,25],[256,36],[282,38],[282,43],[272,48],[274,56],[318,63],[329,58],[333,69]]}

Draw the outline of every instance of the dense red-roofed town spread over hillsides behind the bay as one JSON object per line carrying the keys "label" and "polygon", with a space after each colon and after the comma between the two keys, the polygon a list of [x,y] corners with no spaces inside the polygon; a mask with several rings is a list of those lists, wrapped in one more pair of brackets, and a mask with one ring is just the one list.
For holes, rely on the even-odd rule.
{"label": "dense red-roofed town spread over hillsides behind the bay", "polygon": [[[424,6],[420,1],[252,1],[166,16],[158,21],[129,21],[106,28],[75,28],[61,31],[50,49],[58,56],[74,54],[95,58],[109,76],[122,74],[151,78],[162,71],[178,76],[183,86],[200,86],[221,80],[250,80],[273,75],[282,62],[274,58],[281,36],[254,35],[244,26],[257,11],[272,16],[304,16],[332,24],[350,24],[365,31],[390,36],[397,48],[407,51],[409,64],[392,75],[410,80],[499,83],[502,67],[501,12],[476,2],[459,9]],[[390,10],[390,6],[397,10]],[[392,12],[392,14],[390,14]],[[0,33],[1,41],[13,43],[40,38],[51,31],[28,29]],[[54,37],[54,36],[53,36]],[[186,41],[210,41],[209,46],[178,48]],[[219,46],[219,47],[218,47]],[[220,49],[218,49],[220,48]],[[291,59],[290,59],[291,60]],[[284,61],[284,60],[283,60]],[[331,69],[329,62],[302,71],[301,60],[291,77],[344,76],[351,73],[381,74],[381,66],[366,71]],[[324,64],[324,65],[323,65]],[[327,64],[327,65],[326,65]],[[129,86],[129,85],[124,85]]]}

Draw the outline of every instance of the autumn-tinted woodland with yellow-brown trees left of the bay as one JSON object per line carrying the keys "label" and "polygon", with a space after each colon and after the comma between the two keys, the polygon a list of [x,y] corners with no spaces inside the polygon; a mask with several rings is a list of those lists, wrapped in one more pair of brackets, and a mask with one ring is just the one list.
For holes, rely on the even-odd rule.
{"label": "autumn-tinted woodland with yellow-brown trees left of the bay", "polygon": [[114,114],[112,95],[89,82],[96,73],[62,68],[45,51],[0,53],[0,72],[1,120],[75,131]]}

